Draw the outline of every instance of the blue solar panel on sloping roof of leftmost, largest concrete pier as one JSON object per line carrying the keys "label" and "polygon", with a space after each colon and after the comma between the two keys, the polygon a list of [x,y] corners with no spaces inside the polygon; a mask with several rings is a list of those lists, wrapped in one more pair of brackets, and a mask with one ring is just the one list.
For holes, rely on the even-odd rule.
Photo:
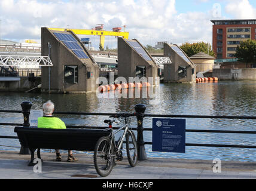
{"label": "blue solar panel on sloping roof of leftmost, largest concrete pier", "polygon": [[83,48],[78,44],[77,39],[75,39],[71,34],[57,32],[54,32],[53,34],[57,37],[57,39],[62,41],[66,47],[72,50],[78,58],[89,58],[87,54],[84,53]]}

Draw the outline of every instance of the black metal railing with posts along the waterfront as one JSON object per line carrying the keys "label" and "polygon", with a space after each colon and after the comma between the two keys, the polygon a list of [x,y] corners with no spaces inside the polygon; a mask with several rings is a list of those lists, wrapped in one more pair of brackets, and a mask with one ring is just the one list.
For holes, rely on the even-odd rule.
{"label": "black metal railing with posts along the waterfront", "polygon": [[[24,101],[22,104],[22,110],[0,110],[4,113],[23,113],[23,124],[14,123],[1,123],[0,125],[10,125],[10,126],[23,126],[29,127],[29,115],[32,103],[29,101]],[[145,114],[146,106],[144,104],[137,104],[135,106],[134,116],[137,118],[138,127],[132,128],[132,130],[137,131],[137,144],[138,144],[138,158],[143,161],[147,159],[147,154],[145,153],[145,144],[153,144],[152,142],[145,142],[143,137],[144,131],[152,131],[152,128],[144,128],[143,120],[144,118],[202,118],[202,119],[256,119],[256,116],[208,116],[208,115],[153,115]],[[89,112],[54,112],[57,115],[96,115],[96,116],[112,116],[117,113],[89,113]],[[99,128],[105,129],[106,127],[88,127],[83,125],[66,125],[67,128]],[[118,129],[113,127],[113,129]],[[185,130],[191,133],[231,133],[231,134],[256,134],[256,131],[231,131],[231,130]],[[0,138],[18,138],[16,136],[5,136],[1,135]],[[235,145],[235,144],[198,144],[198,143],[185,143],[185,146],[200,146],[200,147],[232,147],[232,148],[247,148],[256,149],[256,145]],[[21,149],[23,150],[23,149]],[[20,154],[23,154],[20,152]]]}

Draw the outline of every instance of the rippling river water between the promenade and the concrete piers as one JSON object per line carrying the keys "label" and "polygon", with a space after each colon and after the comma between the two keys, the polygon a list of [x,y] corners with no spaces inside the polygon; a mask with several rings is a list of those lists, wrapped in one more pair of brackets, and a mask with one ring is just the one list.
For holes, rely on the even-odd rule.
{"label": "rippling river water between the promenade and the concrete piers", "polygon": [[[256,81],[220,81],[199,84],[161,84],[159,104],[150,98],[99,98],[90,94],[0,93],[0,109],[21,110],[20,103],[28,100],[32,109],[41,109],[51,100],[56,111],[70,112],[134,112],[135,104],[147,106],[147,114],[256,116]],[[107,116],[57,115],[66,125],[104,126]],[[1,113],[0,122],[23,123],[21,113]],[[130,120],[136,127],[136,119]],[[117,127],[117,125],[114,125]],[[152,127],[152,118],[144,119],[144,127]],[[186,119],[187,129],[256,131],[253,119]],[[0,126],[1,135],[15,135],[14,127]],[[151,131],[144,131],[144,141],[152,141]],[[186,133],[186,143],[256,145],[254,134]],[[0,138],[0,150],[19,151],[19,140]],[[185,153],[152,152],[145,146],[148,157],[208,159],[226,161],[256,161],[256,149],[186,147]]]}

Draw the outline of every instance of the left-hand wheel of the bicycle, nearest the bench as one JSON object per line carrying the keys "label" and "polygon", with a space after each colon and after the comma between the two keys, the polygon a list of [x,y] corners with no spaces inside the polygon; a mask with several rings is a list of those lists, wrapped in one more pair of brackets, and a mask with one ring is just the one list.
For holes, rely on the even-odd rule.
{"label": "left-hand wheel of the bicycle, nearest the bench", "polygon": [[93,155],[97,173],[102,177],[109,175],[112,171],[114,160],[114,147],[111,145],[111,140],[108,137],[101,137],[96,143]]}

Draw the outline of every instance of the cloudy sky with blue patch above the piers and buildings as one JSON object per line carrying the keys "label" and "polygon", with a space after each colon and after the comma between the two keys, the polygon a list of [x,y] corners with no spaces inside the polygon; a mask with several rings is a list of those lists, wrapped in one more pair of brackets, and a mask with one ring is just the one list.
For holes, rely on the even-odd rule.
{"label": "cloudy sky with blue patch above the piers and buildings", "polygon": [[[0,0],[0,38],[41,42],[41,27],[104,30],[126,25],[130,39],[143,45],[159,41],[212,44],[212,22],[218,19],[255,19],[255,0]],[[99,36],[90,38],[93,47]],[[117,38],[106,36],[105,47],[116,48]]]}

